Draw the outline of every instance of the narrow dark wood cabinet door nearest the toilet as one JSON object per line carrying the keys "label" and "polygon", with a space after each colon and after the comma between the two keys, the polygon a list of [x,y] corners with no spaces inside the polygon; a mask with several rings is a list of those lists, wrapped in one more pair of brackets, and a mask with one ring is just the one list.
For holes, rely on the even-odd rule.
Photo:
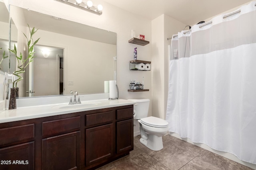
{"label": "narrow dark wood cabinet door nearest the toilet", "polygon": [[133,119],[116,123],[117,153],[133,150]]}

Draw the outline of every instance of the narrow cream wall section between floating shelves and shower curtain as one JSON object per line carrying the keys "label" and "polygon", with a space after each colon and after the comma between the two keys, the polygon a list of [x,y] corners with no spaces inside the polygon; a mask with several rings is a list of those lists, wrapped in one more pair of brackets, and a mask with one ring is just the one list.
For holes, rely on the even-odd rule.
{"label": "narrow cream wall section between floating shelves and shower curtain", "polygon": [[186,24],[161,15],[152,20],[152,115],[165,119],[169,79],[169,45]]}

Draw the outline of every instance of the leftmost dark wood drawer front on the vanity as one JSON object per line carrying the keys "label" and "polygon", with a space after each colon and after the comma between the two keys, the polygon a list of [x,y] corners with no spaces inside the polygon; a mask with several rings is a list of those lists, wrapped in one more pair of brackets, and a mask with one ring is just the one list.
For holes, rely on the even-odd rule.
{"label": "leftmost dark wood drawer front on the vanity", "polygon": [[0,145],[33,139],[35,137],[35,124],[7,127],[0,129]]}

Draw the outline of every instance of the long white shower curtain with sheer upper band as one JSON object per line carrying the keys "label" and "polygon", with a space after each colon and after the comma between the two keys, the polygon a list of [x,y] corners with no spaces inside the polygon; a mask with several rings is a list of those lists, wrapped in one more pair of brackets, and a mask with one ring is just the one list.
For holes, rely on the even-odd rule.
{"label": "long white shower curtain with sheer upper band", "polygon": [[256,1],[178,33],[170,48],[169,131],[256,164]]}

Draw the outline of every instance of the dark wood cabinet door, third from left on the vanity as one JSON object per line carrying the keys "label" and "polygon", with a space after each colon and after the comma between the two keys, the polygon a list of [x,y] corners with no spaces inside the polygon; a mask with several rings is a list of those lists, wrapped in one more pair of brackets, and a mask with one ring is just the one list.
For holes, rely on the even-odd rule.
{"label": "dark wood cabinet door, third from left on the vanity", "polygon": [[113,155],[113,123],[86,129],[86,166],[100,164]]}

